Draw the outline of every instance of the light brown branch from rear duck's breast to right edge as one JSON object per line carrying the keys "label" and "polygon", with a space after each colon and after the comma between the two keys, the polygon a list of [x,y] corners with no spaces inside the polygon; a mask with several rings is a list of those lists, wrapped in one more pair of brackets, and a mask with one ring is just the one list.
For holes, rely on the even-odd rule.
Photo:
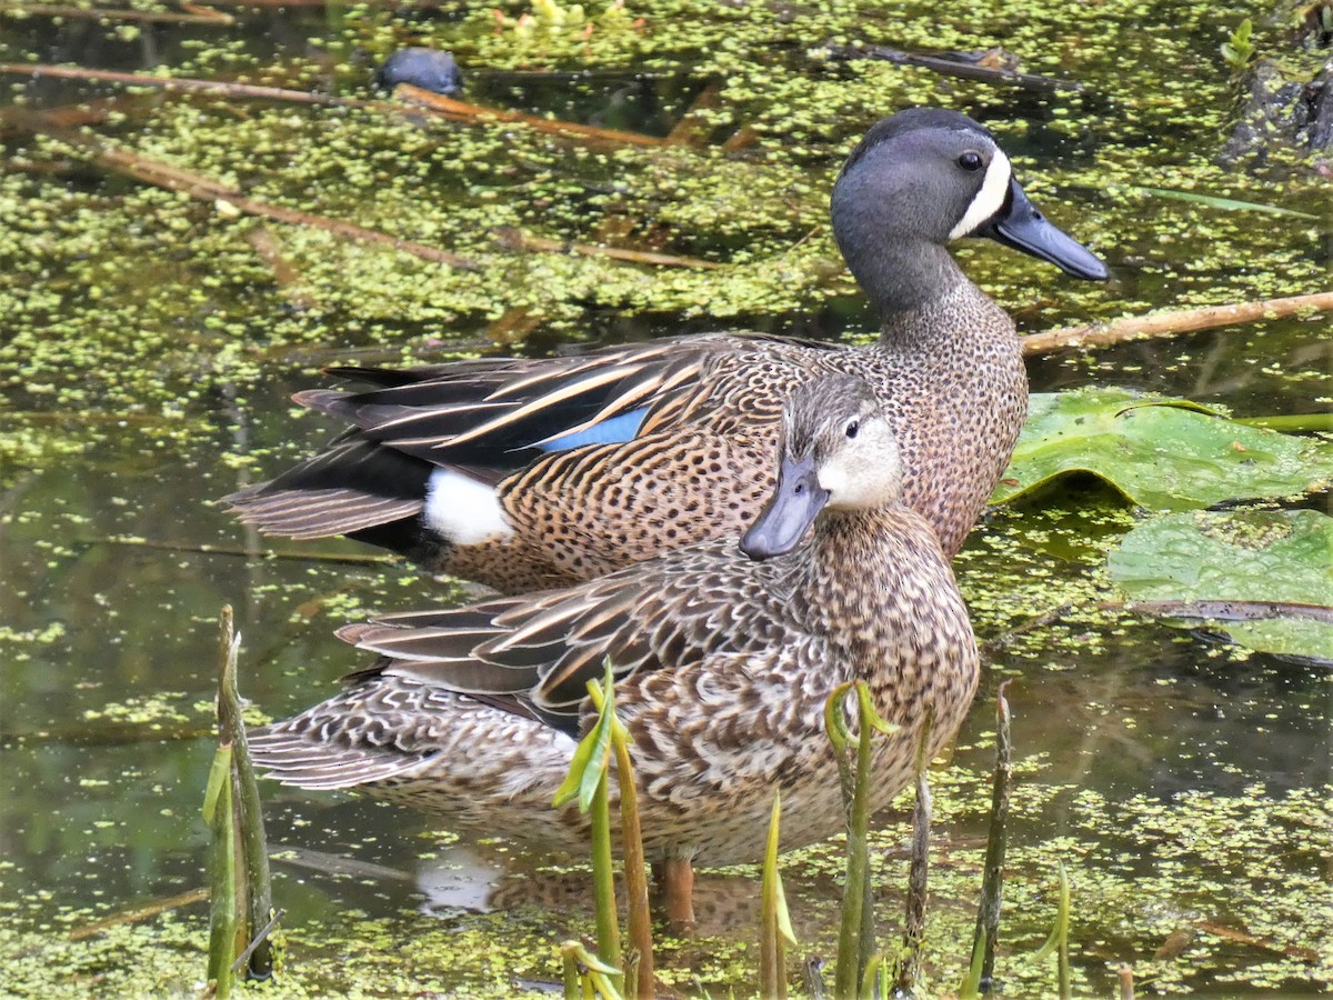
{"label": "light brown branch from rear duck's breast to right edge", "polygon": [[1170,337],[1200,329],[1229,327],[1237,323],[1280,320],[1298,312],[1333,312],[1333,292],[1297,295],[1290,299],[1266,299],[1257,303],[1209,305],[1201,309],[1177,309],[1148,316],[1126,316],[1112,323],[1090,327],[1062,327],[1045,333],[1029,333],[1022,339],[1025,355],[1045,355],[1062,348],[1093,348],[1121,344],[1128,340]]}

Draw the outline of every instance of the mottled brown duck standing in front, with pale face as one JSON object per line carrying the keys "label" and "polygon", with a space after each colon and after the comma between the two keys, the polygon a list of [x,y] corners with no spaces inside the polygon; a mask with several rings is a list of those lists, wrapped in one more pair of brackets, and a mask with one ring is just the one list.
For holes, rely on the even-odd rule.
{"label": "mottled brown duck standing in front, with pale face", "polygon": [[587,816],[552,799],[596,720],[587,681],[609,663],[644,853],[688,925],[693,865],[760,860],[774,789],[781,849],[842,829],[824,721],[840,685],[865,681],[898,727],[874,737],[872,809],[913,780],[926,720],[933,757],[977,688],[966,607],[933,528],[902,503],[901,452],[866,381],[798,384],[769,461],[774,488],[738,541],[344,627],[379,659],[252,729],[255,764],[288,785],[416,807],[455,832],[585,856]]}

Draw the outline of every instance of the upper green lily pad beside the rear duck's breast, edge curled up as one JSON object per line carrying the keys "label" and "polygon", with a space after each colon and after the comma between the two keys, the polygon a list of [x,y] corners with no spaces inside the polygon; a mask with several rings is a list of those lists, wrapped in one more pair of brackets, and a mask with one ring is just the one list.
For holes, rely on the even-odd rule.
{"label": "upper green lily pad beside the rear duck's breast, edge curled up", "polygon": [[1333,481],[1333,444],[1124,389],[1033,393],[1028,424],[992,501],[1076,472],[1106,480],[1141,507],[1189,511],[1326,485]]}

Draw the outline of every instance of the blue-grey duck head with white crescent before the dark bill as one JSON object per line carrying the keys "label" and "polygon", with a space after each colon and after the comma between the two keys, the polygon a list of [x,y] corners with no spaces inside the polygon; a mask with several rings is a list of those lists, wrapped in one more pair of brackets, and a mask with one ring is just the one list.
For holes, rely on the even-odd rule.
{"label": "blue-grey duck head with white crescent before the dark bill", "polygon": [[833,233],[848,267],[886,308],[910,308],[961,272],[945,247],[986,236],[1105,280],[1106,265],[1032,204],[989,131],[956,111],[910,108],[856,147],[833,187]]}

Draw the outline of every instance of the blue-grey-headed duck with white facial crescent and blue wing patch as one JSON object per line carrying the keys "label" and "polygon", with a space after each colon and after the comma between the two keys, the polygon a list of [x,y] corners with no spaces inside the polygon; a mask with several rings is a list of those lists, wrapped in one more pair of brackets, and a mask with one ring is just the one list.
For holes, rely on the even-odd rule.
{"label": "blue-grey-headed duck with white facial crescent and blue wing patch", "polygon": [[333,368],[369,388],[295,399],[348,429],[224,503],[264,533],[347,535],[503,593],[564,587],[738,535],[773,485],[782,401],[845,372],[884,403],[904,500],[953,556],[1013,452],[1028,380],[1013,321],[950,244],[989,237],[1086,280],[1106,267],[1032,204],[988,129],[942,108],[870,128],[830,215],[882,320],[869,345],[704,333],[572,357]]}

